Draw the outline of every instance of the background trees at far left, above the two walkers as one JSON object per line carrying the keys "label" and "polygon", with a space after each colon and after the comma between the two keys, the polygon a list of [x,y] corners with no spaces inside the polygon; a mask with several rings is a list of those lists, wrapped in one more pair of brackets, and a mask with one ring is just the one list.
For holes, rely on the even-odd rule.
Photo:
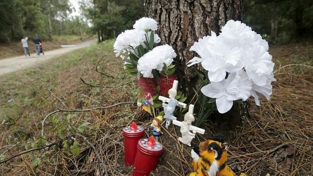
{"label": "background trees at far left, above the two walkers", "polygon": [[0,43],[20,40],[23,35],[51,39],[55,34],[86,34],[87,20],[70,18],[71,9],[69,0],[0,0]]}

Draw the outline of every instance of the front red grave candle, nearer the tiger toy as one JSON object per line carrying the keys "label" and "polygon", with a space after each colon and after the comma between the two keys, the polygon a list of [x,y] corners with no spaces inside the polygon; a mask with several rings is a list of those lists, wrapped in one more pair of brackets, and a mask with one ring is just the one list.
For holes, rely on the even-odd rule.
{"label": "front red grave candle, nearer the tiger toy", "polygon": [[162,153],[162,145],[151,136],[138,141],[137,154],[132,176],[149,176],[156,169],[157,161]]}

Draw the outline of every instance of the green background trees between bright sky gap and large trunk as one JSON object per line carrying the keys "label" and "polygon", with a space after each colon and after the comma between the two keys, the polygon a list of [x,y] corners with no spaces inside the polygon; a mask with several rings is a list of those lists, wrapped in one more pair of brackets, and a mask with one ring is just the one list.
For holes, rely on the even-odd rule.
{"label": "green background trees between bright sky gap and large trunk", "polygon": [[113,38],[144,16],[142,0],[84,0],[83,13],[92,22],[98,41]]}

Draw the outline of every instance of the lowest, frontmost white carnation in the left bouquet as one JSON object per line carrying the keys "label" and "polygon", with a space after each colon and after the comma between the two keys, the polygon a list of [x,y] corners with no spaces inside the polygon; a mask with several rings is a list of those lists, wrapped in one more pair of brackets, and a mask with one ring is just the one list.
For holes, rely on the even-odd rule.
{"label": "lowest, frontmost white carnation in the left bouquet", "polygon": [[153,78],[152,70],[161,71],[164,66],[163,63],[169,66],[174,57],[176,57],[176,53],[171,46],[167,44],[157,46],[139,58],[137,70],[141,72],[143,77]]}

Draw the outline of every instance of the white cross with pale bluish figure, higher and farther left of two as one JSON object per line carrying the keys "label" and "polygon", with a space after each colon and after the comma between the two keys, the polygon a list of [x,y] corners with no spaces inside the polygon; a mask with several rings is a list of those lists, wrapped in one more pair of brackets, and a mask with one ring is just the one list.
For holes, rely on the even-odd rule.
{"label": "white cross with pale bluish figure, higher and farther left of two", "polygon": [[[159,96],[158,99],[161,100],[162,106],[164,108],[164,118],[166,119],[166,124],[165,127],[169,128],[170,124],[172,121],[176,120],[176,117],[174,117],[174,111],[175,107],[183,107],[186,108],[187,105],[181,102],[178,102],[175,97],[177,95],[177,86],[178,86],[178,81],[174,80],[173,87],[169,89],[169,97],[166,98],[163,96]],[[167,103],[167,104],[166,104]]]}

